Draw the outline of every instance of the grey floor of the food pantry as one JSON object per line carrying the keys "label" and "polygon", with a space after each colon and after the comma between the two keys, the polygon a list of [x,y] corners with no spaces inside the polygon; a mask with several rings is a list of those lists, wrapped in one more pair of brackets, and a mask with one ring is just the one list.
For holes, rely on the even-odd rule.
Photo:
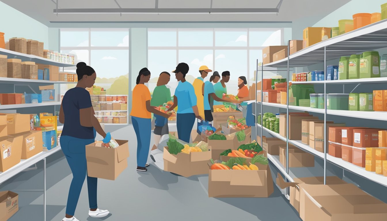
{"label": "grey floor of the food pantry", "polygon": [[[80,221],[301,220],[276,187],[269,198],[215,199],[207,195],[208,176],[184,178],[161,171],[154,165],[149,166],[148,172],[137,172],[133,128],[125,127],[112,135],[130,140],[128,168],[115,181],[98,180],[98,206],[110,211],[103,219],[88,216],[85,181],[75,211],[75,217]],[[47,220],[61,221],[72,175],[61,151],[50,156],[47,166]],[[19,212],[10,221],[43,220],[42,164],[38,164],[38,168],[22,172],[0,185],[0,191],[13,190],[19,194]],[[275,174],[274,168],[272,174]]]}

